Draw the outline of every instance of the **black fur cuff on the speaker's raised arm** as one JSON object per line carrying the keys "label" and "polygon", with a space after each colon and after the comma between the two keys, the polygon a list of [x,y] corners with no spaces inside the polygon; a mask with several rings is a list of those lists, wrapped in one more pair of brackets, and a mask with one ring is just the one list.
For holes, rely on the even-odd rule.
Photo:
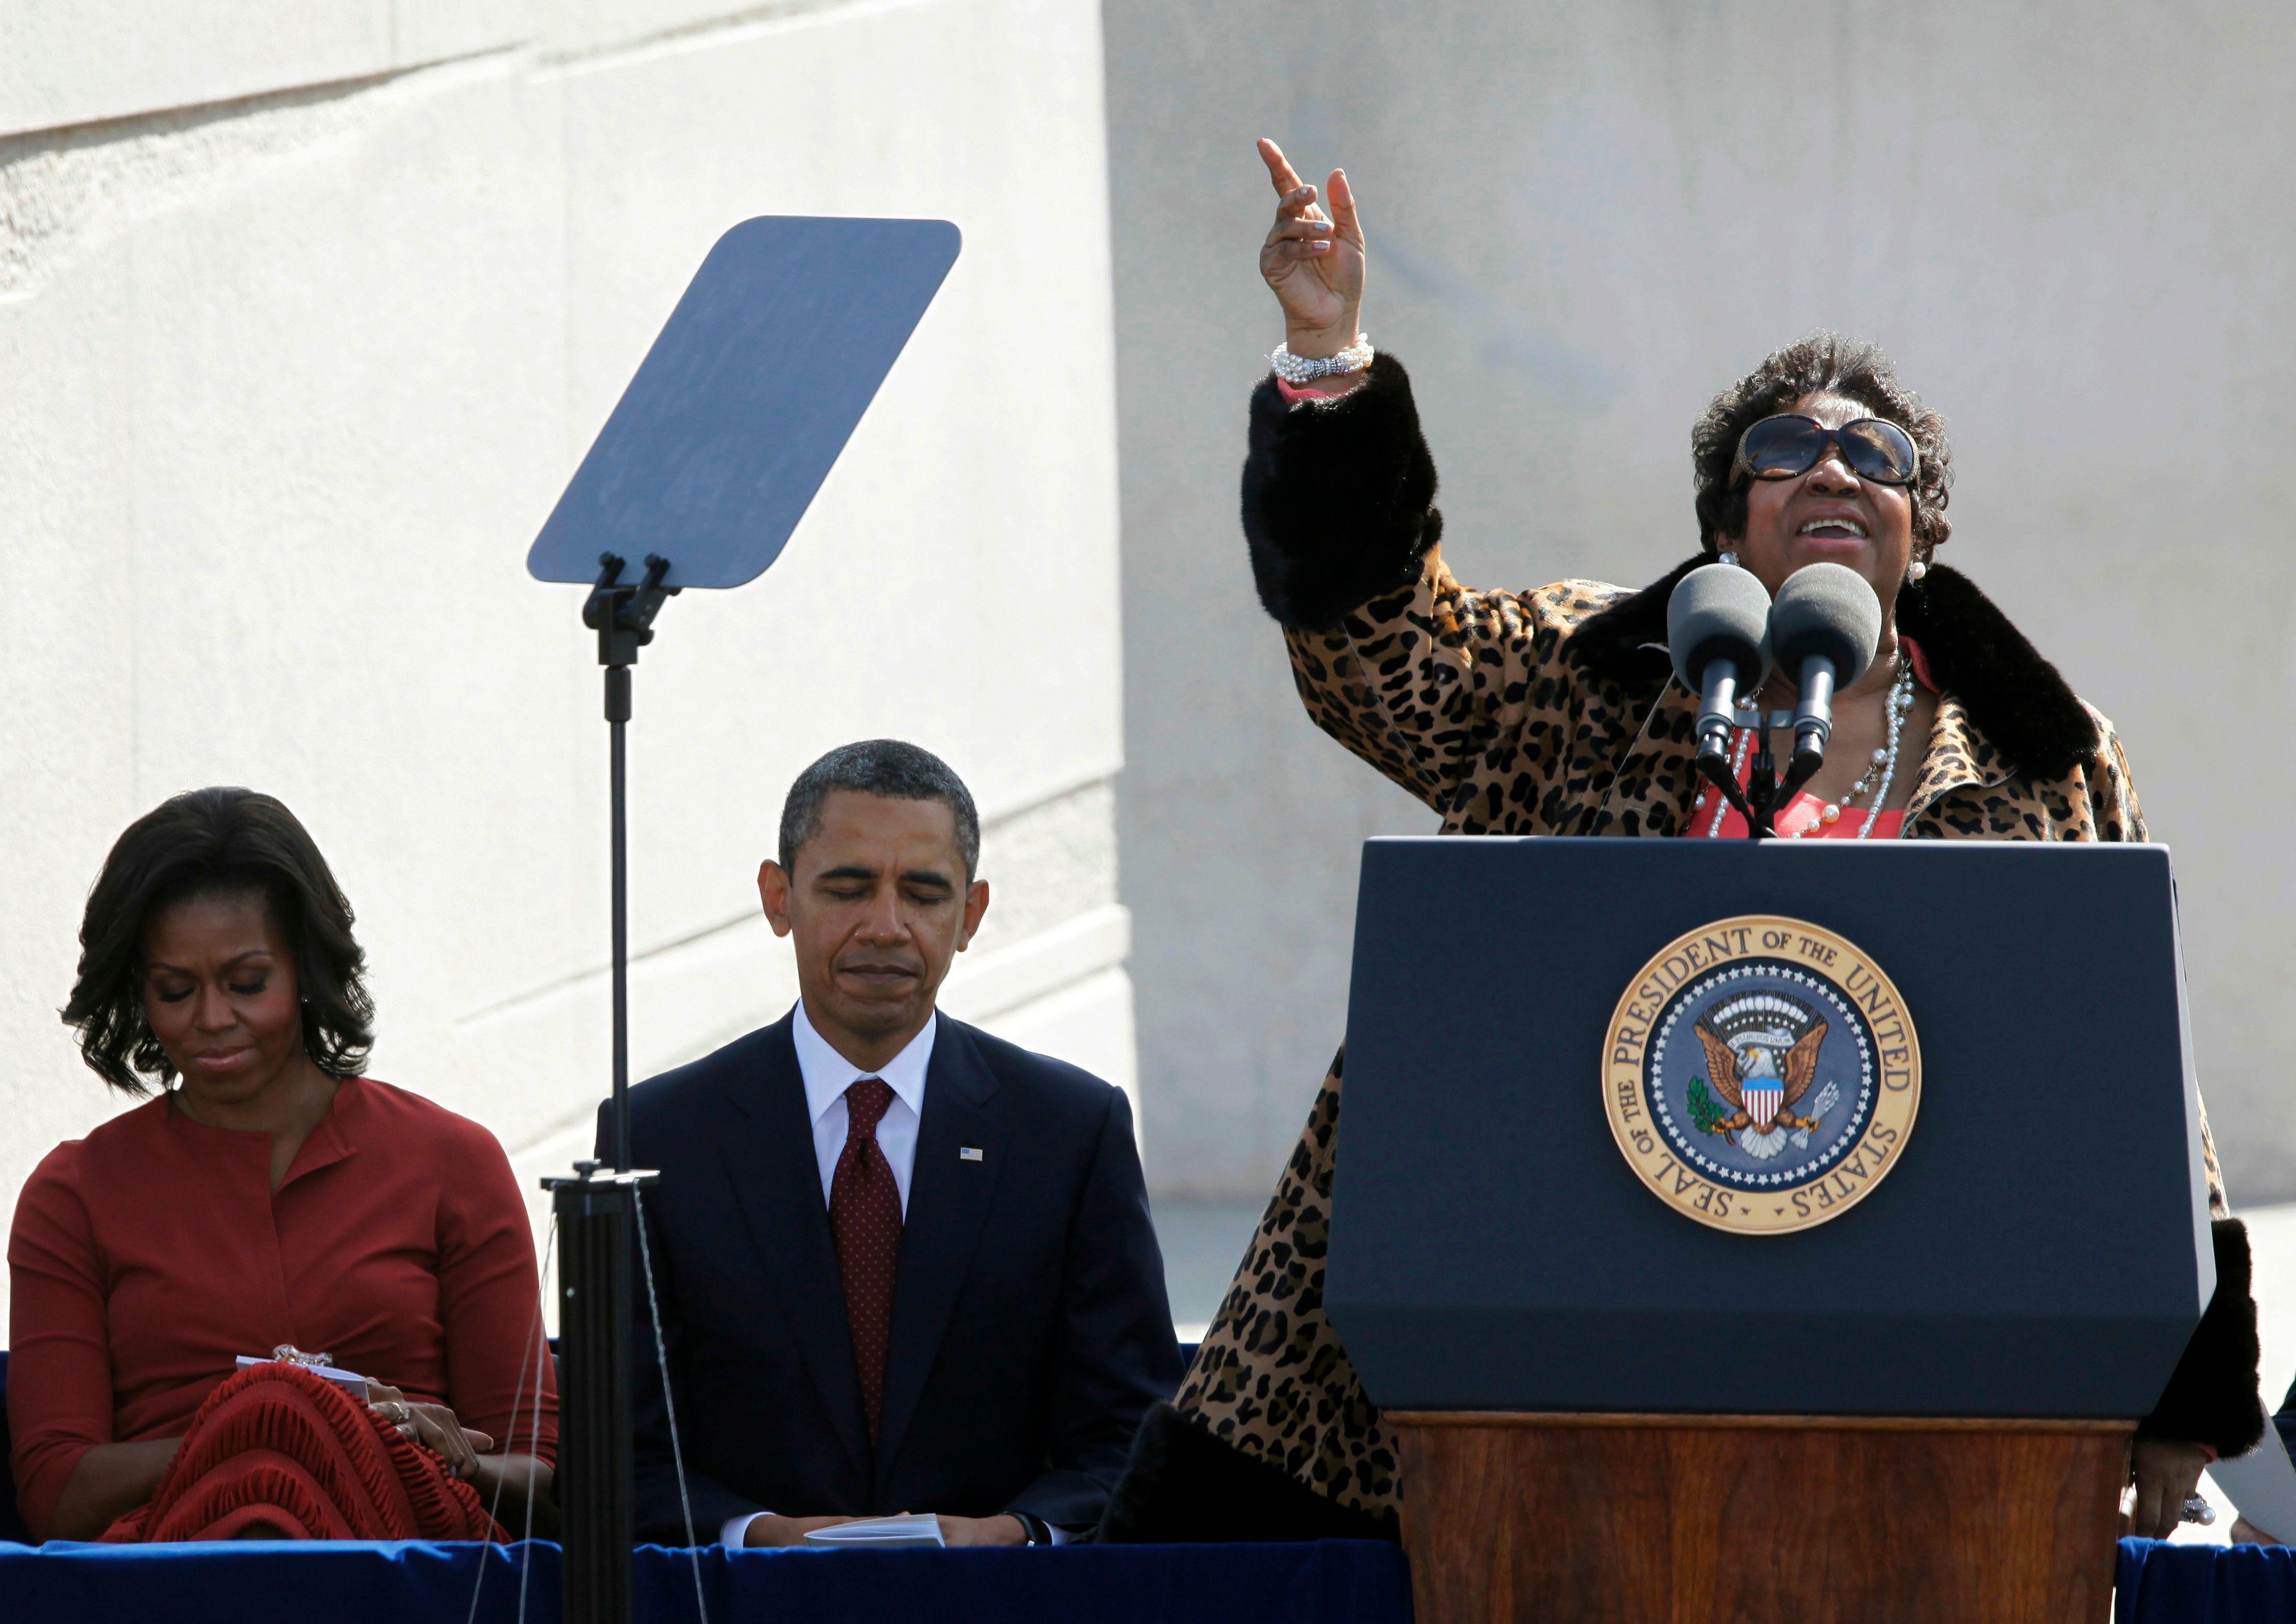
{"label": "black fur cuff on the speaker's raised arm", "polygon": [[1306,632],[1410,586],[1442,535],[1435,457],[1394,356],[1332,404],[1290,404],[1274,377],[1251,393],[1244,540],[1261,602]]}

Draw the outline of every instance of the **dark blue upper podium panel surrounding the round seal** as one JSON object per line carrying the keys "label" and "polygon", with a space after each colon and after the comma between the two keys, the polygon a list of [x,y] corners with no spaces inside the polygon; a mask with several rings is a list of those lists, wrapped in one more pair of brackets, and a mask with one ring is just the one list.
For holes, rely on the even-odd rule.
{"label": "dark blue upper podium panel surrounding the round seal", "polygon": [[[1605,1114],[1621,995],[1745,914],[1919,1036],[1887,1178],[1791,1234],[1676,1211]],[[1375,1403],[2138,1417],[2213,1289],[2167,850],[1366,843],[1325,1298]]]}

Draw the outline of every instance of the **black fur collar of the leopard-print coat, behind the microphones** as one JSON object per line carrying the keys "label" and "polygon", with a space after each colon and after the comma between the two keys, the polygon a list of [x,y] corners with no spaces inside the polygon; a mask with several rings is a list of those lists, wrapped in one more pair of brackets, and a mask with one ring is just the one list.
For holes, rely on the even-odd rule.
{"label": "black fur collar of the leopard-print coat, behind the microphones", "polygon": [[[1570,639],[1589,668],[1630,680],[1665,655],[1667,597],[1674,583],[1713,563],[1688,558],[1632,597],[1591,616]],[[1919,586],[1896,597],[1896,622],[1922,645],[1929,675],[1947,687],[1979,730],[2030,776],[2060,779],[2096,753],[2096,721],[2009,616],[1970,577],[1931,565]]]}

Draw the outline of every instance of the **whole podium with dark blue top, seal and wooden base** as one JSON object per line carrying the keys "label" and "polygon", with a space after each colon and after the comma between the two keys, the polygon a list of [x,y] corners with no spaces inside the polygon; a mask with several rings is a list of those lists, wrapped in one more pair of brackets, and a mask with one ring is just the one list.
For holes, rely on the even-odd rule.
{"label": "whole podium with dark blue top, seal and wooden base", "polygon": [[2158,845],[1371,841],[1325,1305],[1421,1624],[2099,1624],[2216,1289]]}

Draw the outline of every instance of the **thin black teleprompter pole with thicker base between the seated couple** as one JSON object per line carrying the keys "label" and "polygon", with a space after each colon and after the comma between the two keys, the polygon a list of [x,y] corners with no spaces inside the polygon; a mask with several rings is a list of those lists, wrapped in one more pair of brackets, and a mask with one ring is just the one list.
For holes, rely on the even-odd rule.
{"label": "thin black teleprompter pole with thicker base between the seated couple", "polygon": [[558,1509],[565,1541],[565,1624],[629,1624],[634,1472],[629,1443],[631,1298],[638,1192],[654,1174],[629,1165],[629,668],[654,641],[654,616],[675,586],[668,558],[647,556],[645,577],[622,581],[622,560],[599,556],[583,625],[597,632],[606,668],[608,799],[613,804],[613,1167],[574,1162],[572,1178],[544,1178],[558,1217],[560,1387]]}

